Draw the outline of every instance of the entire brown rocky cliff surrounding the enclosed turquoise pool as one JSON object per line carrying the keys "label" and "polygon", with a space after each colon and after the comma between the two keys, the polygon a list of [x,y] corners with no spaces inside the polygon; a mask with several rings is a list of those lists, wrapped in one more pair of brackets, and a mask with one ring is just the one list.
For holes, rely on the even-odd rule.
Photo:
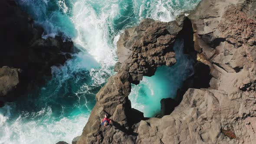
{"label": "entire brown rocky cliff surrounding the enclosed turquoise pool", "polygon": [[[255,33],[255,0],[202,0],[188,17],[146,19],[126,29],[117,43],[117,73],[96,95],[77,144],[256,143]],[[128,100],[131,83],[174,65],[176,39],[193,45],[185,52],[195,56],[195,74],[170,115],[144,118]],[[112,126],[100,125],[104,114]]]}

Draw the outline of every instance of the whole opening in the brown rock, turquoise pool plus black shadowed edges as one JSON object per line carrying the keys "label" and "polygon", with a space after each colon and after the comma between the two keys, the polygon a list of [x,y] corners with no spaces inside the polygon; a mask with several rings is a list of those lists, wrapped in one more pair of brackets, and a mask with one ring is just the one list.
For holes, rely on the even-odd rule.
{"label": "whole opening in the brown rock, turquoise pool plus black shadowed edges", "polygon": [[188,88],[210,87],[210,66],[197,61],[194,43],[192,23],[185,18],[173,48],[177,62],[171,67],[161,66],[153,76],[143,76],[140,84],[131,85],[132,108],[143,112],[146,118],[161,118],[181,103]]}

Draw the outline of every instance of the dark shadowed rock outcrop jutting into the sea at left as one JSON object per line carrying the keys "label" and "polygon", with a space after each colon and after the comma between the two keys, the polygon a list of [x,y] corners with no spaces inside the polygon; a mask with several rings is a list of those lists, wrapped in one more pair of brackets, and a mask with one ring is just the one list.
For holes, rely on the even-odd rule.
{"label": "dark shadowed rock outcrop jutting into the sea at left", "polygon": [[[0,103],[44,83],[51,66],[62,65],[74,52],[71,41],[42,39],[43,28],[33,26],[33,18],[13,0],[0,1]],[[8,67],[6,67],[8,66]]]}

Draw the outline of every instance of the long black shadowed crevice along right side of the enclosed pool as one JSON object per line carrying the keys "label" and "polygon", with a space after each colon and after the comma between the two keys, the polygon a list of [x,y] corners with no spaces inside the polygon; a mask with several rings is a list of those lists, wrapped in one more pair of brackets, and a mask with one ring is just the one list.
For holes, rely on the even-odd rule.
{"label": "long black shadowed crevice along right side of the enclosed pool", "polygon": [[[197,62],[197,52],[194,50],[194,31],[191,21],[185,17],[183,28],[178,34],[177,39],[184,39],[184,54],[189,55],[194,62]],[[157,118],[162,118],[164,115],[170,115],[174,108],[181,103],[183,95],[188,88],[208,88],[210,87],[210,68],[202,62],[197,62],[194,65],[194,75],[184,81],[181,89],[177,90],[175,99],[161,99],[161,111],[156,115]]]}

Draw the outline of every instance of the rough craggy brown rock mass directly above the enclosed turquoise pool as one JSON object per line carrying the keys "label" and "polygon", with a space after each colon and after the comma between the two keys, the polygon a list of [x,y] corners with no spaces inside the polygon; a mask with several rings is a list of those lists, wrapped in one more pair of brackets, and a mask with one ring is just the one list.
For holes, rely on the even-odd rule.
{"label": "rough craggy brown rock mass directly above the enclosed turquoise pool", "polygon": [[138,84],[143,75],[154,75],[157,67],[173,65],[176,59],[171,47],[181,24],[178,20],[162,23],[145,19],[139,26],[126,29],[117,42],[117,55],[122,63],[118,72],[127,69],[130,82]]}

